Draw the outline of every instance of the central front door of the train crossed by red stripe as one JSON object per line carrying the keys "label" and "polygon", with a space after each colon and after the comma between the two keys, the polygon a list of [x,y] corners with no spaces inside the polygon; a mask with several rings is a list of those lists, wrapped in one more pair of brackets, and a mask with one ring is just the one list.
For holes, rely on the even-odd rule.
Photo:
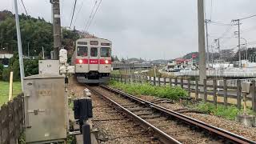
{"label": "central front door of the train crossed by red stripe", "polygon": [[90,47],[89,70],[98,71],[98,47]]}

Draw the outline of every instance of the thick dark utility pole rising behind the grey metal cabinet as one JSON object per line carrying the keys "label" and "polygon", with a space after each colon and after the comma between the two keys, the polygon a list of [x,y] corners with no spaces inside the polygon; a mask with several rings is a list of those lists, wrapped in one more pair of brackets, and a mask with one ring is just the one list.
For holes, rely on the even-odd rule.
{"label": "thick dark utility pole rising behind the grey metal cabinet", "polygon": [[62,46],[61,34],[61,15],[59,8],[59,0],[50,0],[53,11],[53,26],[54,26],[54,59],[58,59],[58,50]]}

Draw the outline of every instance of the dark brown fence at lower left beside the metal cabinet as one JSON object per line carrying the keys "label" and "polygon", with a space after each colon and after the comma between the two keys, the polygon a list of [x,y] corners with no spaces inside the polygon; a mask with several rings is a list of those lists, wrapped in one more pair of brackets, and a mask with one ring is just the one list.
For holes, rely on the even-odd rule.
{"label": "dark brown fence at lower left beside the metal cabinet", "polygon": [[16,144],[23,130],[23,98],[19,94],[0,107],[0,143]]}

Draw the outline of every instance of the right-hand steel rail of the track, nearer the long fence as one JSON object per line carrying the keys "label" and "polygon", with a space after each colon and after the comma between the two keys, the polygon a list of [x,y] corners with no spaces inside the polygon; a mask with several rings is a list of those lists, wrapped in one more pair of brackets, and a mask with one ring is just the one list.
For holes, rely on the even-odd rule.
{"label": "right-hand steel rail of the track, nearer the long fence", "polygon": [[176,118],[178,120],[182,120],[183,122],[188,123],[192,126],[197,126],[198,128],[201,128],[202,130],[210,131],[211,134],[216,134],[216,135],[218,135],[219,138],[228,140],[230,142],[243,143],[243,144],[244,143],[248,143],[248,144],[256,143],[256,142],[254,142],[250,139],[244,138],[238,134],[234,134],[234,133],[231,133],[230,131],[223,130],[216,126],[206,124],[205,122],[198,121],[197,119],[194,119],[194,118],[190,118],[184,114],[179,114],[178,112],[175,112],[173,110],[168,110],[162,106],[158,106],[154,103],[147,102],[141,98],[137,98],[134,95],[126,94],[125,92],[123,92],[121,90],[116,90],[114,88],[110,88],[108,86],[102,86],[102,85],[101,85],[101,87],[106,90],[109,90],[111,92],[114,92],[116,94],[121,94],[122,96],[125,96],[126,98],[130,98],[130,99],[134,100],[135,102],[139,102],[143,105],[150,106],[154,110],[158,110],[162,114],[165,114],[166,116],[170,116],[171,118]]}

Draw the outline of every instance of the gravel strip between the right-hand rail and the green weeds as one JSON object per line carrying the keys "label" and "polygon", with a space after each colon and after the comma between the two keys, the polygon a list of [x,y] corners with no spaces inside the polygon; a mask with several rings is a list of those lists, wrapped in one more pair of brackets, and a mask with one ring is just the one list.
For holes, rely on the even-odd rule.
{"label": "gravel strip between the right-hand rail and the green weeds", "polygon": [[[140,95],[138,98],[142,98],[149,102],[154,102],[158,98],[153,96]],[[159,106],[163,106],[169,110],[178,110],[182,108],[186,108],[179,103],[158,103]],[[245,138],[249,138],[253,141],[256,141],[256,127],[244,126],[238,122],[228,120],[226,118],[220,118],[218,116],[210,115],[210,114],[194,114],[194,113],[185,113],[185,115],[190,116],[192,118],[196,118],[202,122],[206,122],[213,126],[217,126],[224,130],[228,130],[234,134],[242,135]]]}

